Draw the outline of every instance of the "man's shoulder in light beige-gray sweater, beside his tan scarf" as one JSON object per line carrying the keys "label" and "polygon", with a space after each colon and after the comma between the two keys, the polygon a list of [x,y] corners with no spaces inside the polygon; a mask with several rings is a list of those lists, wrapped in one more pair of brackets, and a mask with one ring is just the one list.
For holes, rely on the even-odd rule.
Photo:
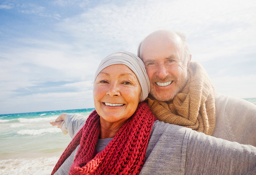
{"label": "man's shoulder in light beige-gray sweater, beside his tan scarf", "polygon": [[216,94],[216,123],[212,136],[256,146],[256,105],[246,100]]}

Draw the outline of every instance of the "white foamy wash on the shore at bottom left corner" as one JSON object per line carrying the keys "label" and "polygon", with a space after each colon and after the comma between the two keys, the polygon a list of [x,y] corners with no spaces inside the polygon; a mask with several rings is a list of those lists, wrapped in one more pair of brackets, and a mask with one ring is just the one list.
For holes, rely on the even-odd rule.
{"label": "white foamy wash on the shore at bottom left corner", "polygon": [[18,158],[0,160],[1,175],[42,175],[51,174],[58,157]]}

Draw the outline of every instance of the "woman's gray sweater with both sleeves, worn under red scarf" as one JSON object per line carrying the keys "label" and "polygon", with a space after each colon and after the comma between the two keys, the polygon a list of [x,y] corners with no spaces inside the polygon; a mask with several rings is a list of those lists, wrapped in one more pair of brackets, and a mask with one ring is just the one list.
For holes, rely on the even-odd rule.
{"label": "woman's gray sweater with both sleeves, worn under red scarf", "polygon": [[[67,128],[73,137],[85,120],[79,114],[68,114],[63,128]],[[103,150],[111,140],[98,140],[97,151]],[[68,174],[78,148],[56,175]],[[256,148],[157,120],[150,133],[145,163],[139,174],[256,174]]]}

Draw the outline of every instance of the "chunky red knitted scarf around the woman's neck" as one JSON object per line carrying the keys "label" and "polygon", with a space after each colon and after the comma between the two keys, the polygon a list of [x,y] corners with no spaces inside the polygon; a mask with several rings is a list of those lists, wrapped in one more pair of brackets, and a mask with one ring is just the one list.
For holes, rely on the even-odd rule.
{"label": "chunky red knitted scarf around the woman's neck", "polygon": [[80,147],[69,170],[70,175],[139,174],[144,164],[154,121],[156,118],[148,104],[141,102],[133,116],[121,127],[113,140],[97,154],[100,117],[94,110],[61,155],[52,175],[79,144]]}

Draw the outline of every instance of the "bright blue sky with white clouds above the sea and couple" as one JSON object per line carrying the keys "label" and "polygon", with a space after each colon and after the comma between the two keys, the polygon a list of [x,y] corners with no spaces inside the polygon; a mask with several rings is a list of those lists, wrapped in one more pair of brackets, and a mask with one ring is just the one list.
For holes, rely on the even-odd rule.
{"label": "bright blue sky with white clouds above the sea and couple", "polygon": [[1,0],[0,114],[94,108],[94,73],[159,29],[186,34],[217,93],[256,98],[255,0]]}

